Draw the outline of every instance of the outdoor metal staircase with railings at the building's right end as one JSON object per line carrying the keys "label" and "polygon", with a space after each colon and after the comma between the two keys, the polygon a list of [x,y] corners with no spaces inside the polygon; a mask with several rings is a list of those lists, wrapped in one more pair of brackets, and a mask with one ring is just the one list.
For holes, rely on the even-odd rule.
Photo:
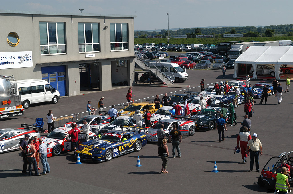
{"label": "outdoor metal staircase with railings at the building's right end", "polygon": [[[141,68],[143,71],[151,71],[151,73],[154,74],[156,76],[156,78],[158,78],[162,83],[166,83],[166,85],[173,84],[173,82],[171,81],[171,79],[174,80],[174,76],[171,77],[171,78],[169,78],[165,74],[163,74],[162,71],[161,71],[161,66],[159,66],[159,68],[157,68],[155,65],[153,65],[150,62],[151,60],[149,60],[149,58],[147,56],[145,56],[145,55],[143,55],[144,56],[144,59],[148,59],[149,62],[144,62],[136,54],[135,54],[135,56],[136,56],[135,57],[135,64],[137,64],[139,66],[139,68]],[[160,64],[160,65],[162,65],[160,62],[157,62],[157,63]],[[169,72],[169,73],[171,73],[171,72]]]}

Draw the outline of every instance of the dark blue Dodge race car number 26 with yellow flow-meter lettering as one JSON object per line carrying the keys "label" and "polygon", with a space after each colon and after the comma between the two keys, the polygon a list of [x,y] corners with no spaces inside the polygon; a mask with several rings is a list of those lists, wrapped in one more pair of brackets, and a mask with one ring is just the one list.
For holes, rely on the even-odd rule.
{"label": "dark blue Dodge race car number 26 with yellow flow-meter lettering", "polygon": [[138,152],[147,144],[146,128],[128,125],[121,127],[129,130],[113,130],[99,139],[79,144],[75,156],[79,154],[80,160],[88,162],[110,161],[126,153]]}

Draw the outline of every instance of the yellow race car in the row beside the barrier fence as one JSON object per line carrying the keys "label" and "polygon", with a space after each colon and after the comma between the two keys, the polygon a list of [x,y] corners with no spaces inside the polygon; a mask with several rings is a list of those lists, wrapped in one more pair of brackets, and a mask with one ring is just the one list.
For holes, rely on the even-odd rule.
{"label": "yellow race car in the row beside the barrier fence", "polygon": [[[160,104],[160,108],[161,107],[162,105]],[[124,109],[121,109],[120,111],[118,111],[118,114],[123,116],[132,116],[137,110],[140,110],[142,113],[144,113],[144,109],[148,109],[151,114],[158,110],[155,109],[154,103],[137,102],[126,106]]]}

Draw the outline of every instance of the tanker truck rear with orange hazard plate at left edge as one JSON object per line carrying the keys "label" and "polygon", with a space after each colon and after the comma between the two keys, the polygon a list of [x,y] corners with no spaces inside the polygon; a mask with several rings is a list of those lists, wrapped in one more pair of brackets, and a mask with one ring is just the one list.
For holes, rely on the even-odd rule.
{"label": "tanker truck rear with orange hazard plate at left edge", "polygon": [[23,115],[21,95],[16,95],[13,75],[0,75],[0,119]]}

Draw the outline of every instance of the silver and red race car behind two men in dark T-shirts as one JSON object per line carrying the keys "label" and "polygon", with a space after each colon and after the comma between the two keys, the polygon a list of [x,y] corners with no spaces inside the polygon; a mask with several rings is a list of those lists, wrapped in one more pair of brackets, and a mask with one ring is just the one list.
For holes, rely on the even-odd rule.
{"label": "silver and red race car behind two men in dark T-shirts", "polygon": [[161,128],[161,124],[164,124],[164,138],[169,140],[169,134],[173,130],[172,124],[175,123],[177,126],[180,126],[181,137],[184,139],[187,136],[193,136],[195,132],[195,124],[192,121],[179,120],[179,119],[163,119],[158,121],[156,124],[148,128],[147,141],[148,142],[157,142],[158,136],[157,131]]}

